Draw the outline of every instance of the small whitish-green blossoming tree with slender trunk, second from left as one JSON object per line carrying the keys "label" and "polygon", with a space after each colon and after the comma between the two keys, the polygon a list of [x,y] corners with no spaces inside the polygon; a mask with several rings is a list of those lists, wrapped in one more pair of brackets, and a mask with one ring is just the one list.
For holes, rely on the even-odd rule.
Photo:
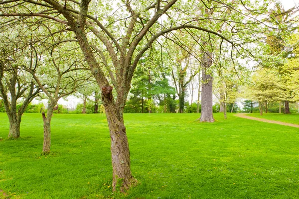
{"label": "small whitish-green blossoming tree with slender trunk, second from left", "polygon": [[[51,40],[53,39],[53,40]],[[47,42],[55,42],[54,36]],[[42,112],[43,119],[43,154],[50,153],[51,147],[51,120],[53,111],[58,109],[60,98],[74,93],[83,84],[88,84],[91,75],[84,66],[84,59],[78,56],[76,47],[67,42],[47,46],[32,46],[35,53],[36,66],[24,67],[36,84],[48,97],[47,114]],[[73,48],[72,48],[73,47]],[[66,53],[68,49],[68,53]],[[48,52],[47,52],[48,51]],[[38,57],[43,56],[43,59]]]}

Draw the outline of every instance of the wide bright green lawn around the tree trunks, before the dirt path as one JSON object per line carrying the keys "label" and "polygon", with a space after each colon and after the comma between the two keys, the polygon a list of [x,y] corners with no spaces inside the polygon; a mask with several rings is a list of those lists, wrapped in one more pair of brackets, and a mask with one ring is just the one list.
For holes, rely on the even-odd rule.
{"label": "wide bright green lawn around the tree trunks, before the dirt path", "polygon": [[[198,123],[191,113],[125,114],[140,184],[119,195],[111,189],[105,115],[55,114],[44,157],[41,115],[24,114],[21,139],[0,141],[0,190],[11,199],[299,198],[298,128],[214,116],[215,123]],[[4,113],[0,121],[4,138]]]}

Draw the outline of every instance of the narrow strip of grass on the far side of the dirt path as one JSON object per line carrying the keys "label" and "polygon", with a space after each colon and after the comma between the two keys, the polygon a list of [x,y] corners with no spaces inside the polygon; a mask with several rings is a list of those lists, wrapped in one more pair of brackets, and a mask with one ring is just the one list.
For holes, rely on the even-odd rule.
{"label": "narrow strip of grass on the far side of the dirt path", "polygon": [[246,115],[252,117],[275,120],[275,121],[282,121],[282,122],[287,122],[292,124],[299,124],[299,113],[292,113],[292,114],[263,113],[263,115],[260,115],[260,113],[249,113]]}

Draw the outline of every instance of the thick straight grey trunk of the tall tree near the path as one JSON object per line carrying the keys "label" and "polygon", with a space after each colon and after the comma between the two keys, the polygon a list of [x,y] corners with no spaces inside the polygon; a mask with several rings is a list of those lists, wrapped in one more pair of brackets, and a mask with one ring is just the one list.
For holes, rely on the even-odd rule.
{"label": "thick straight grey trunk of the tall tree near the path", "polygon": [[213,77],[206,74],[212,65],[212,54],[205,52],[202,57],[202,87],[201,87],[201,114],[200,122],[214,122],[213,117]]}

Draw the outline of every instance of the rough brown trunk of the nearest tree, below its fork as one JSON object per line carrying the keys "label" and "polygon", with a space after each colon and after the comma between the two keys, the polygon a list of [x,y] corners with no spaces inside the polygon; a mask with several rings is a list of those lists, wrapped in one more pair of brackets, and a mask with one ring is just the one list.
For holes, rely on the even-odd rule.
{"label": "rough brown trunk of the nearest tree, below its fork", "polygon": [[[111,138],[111,160],[113,168],[112,187],[116,191],[119,187],[121,192],[125,192],[137,183],[132,176],[129,143],[124,125],[124,118],[121,107],[117,107],[112,97],[112,87],[102,88],[102,103],[105,107]],[[106,92],[110,90],[109,92]]]}

